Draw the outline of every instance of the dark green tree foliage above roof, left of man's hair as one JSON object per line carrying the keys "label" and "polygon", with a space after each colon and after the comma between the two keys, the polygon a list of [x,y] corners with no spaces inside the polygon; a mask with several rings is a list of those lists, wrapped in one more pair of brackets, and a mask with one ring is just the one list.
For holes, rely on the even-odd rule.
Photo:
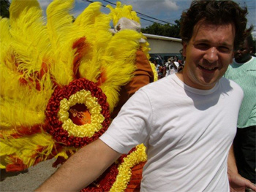
{"label": "dark green tree foliage above roof, left of man's hair", "polygon": [[151,26],[142,28],[141,31],[145,34],[155,34],[165,37],[176,37],[181,38],[179,35],[181,20],[175,20],[175,25],[170,26],[170,24],[161,25],[159,23],[154,23]]}

